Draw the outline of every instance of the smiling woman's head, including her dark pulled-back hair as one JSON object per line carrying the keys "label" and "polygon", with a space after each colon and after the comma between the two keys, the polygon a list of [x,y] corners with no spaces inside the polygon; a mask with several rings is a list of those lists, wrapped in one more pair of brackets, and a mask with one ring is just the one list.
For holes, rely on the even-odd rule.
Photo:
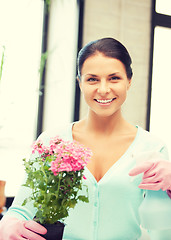
{"label": "smiling woman's head, including her dark pulled-back hair", "polygon": [[77,79],[89,107],[92,103],[97,111],[105,109],[105,114],[121,107],[131,85],[131,63],[126,48],[110,38],[90,43],[80,51]]}

